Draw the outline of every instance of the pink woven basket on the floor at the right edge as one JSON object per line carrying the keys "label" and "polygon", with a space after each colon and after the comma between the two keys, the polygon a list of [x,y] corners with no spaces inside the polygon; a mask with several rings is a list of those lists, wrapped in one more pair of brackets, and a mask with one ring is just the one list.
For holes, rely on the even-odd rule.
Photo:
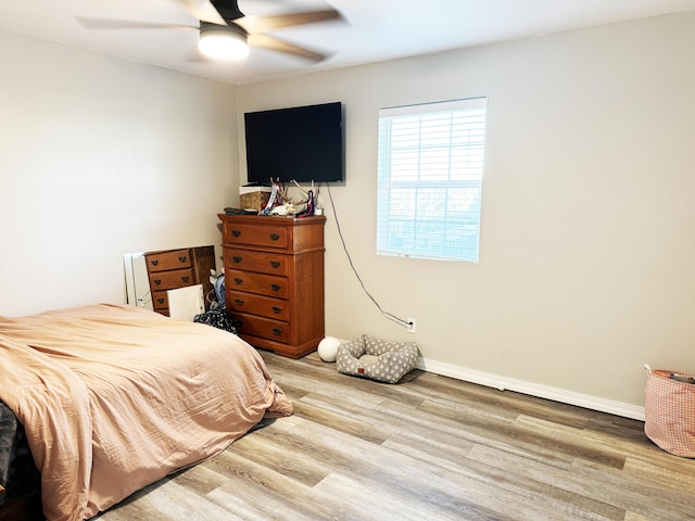
{"label": "pink woven basket on the floor at the right edge", "polygon": [[647,370],[644,390],[644,433],[667,453],[695,458],[695,384],[672,380],[680,371]]}

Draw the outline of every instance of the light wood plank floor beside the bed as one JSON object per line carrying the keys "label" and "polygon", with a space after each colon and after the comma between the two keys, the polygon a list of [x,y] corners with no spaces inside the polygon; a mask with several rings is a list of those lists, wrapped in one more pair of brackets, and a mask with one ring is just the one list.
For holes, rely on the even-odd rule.
{"label": "light wood plank floor beside the bed", "polygon": [[103,521],[695,520],[695,460],[643,423],[415,370],[395,385],[262,352],[295,414]]}

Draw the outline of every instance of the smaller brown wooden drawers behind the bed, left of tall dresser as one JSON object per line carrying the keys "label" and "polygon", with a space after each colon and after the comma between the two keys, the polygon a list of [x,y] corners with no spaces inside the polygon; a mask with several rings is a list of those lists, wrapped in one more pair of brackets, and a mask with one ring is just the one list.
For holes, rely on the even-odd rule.
{"label": "smaller brown wooden drawers behind the bed, left of tall dresser", "polygon": [[[210,271],[215,269],[213,246],[184,247],[144,254],[148,266],[152,306],[156,313],[169,315],[168,290],[203,284],[203,295],[213,289]],[[205,309],[210,304],[205,300]]]}

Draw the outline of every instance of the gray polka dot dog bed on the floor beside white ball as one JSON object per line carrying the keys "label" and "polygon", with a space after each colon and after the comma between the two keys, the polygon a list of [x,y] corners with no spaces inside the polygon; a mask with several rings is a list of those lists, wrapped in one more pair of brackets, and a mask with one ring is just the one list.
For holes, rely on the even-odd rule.
{"label": "gray polka dot dog bed on the floor beside white ball", "polygon": [[418,357],[415,342],[387,342],[363,334],[338,346],[336,365],[343,374],[396,383],[415,369]]}

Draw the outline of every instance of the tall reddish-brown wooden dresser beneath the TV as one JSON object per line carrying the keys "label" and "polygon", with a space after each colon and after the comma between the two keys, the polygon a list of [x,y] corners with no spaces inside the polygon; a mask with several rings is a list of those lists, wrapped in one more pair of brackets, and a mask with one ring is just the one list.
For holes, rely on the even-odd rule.
{"label": "tall reddish-brown wooden dresser beneath the TV", "polygon": [[324,339],[326,217],[220,214],[227,313],[251,345],[300,358]]}

